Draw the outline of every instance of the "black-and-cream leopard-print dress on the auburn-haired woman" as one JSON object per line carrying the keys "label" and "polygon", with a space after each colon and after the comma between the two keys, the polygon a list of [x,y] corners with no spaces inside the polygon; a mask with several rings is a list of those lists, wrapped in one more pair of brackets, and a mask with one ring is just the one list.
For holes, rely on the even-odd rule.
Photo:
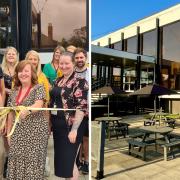
{"label": "black-and-cream leopard-print dress on the auburn-haired woman", "polygon": [[[13,90],[8,105],[15,105],[18,90]],[[31,106],[45,99],[42,85],[35,85],[21,105]],[[48,143],[48,121],[44,112],[33,112],[22,120],[11,136],[8,157],[9,180],[43,180]]]}

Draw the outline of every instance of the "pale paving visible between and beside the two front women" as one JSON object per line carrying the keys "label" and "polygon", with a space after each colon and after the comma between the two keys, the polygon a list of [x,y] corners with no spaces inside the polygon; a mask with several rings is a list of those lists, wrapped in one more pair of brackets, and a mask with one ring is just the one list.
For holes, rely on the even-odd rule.
{"label": "pale paving visible between and beside the two front women", "polygon": [[[60,178],[54,176],[54,150],[53,150],[53,137],[50,136],[49,144],[48,144],[48,157],[50,159],[50,176],[47,178],[48,180],[59,180]],[[88,180],[88,175],[81,174],[79,180]]]}

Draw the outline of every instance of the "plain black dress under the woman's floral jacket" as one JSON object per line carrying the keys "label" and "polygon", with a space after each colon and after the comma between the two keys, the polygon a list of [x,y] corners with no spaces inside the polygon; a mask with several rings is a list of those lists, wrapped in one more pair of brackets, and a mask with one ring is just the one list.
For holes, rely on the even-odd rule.
{"label": "plain black dress under the woman's floral jacket", "polygon": [[[63,108],[61,99],[61,87],[55,86],[50,92],[50,106]],[[54,169],[55,175],[62,178],[73,177],[74,162],[76,162],[76,155],[82,141],[84,131],[84,121],[78,128],[76,143],[70,143],[68,133],[71,127],[68,127],[64,112],[57,111],[57,114],[51,111],[51,122],[54,138]]]}

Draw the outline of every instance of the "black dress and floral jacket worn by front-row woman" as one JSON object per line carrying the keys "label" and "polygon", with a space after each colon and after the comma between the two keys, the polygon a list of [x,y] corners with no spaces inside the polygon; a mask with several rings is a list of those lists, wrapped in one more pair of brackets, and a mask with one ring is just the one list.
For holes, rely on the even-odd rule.
{"label": "black dress and floral jacket worn by front-row woman", "polygon": [[[62,77],[63,78],[63,77]],[[50,106],[64,109],[81,109],[87,112],[87,81],[73,73],[67,82],[58,86],[58,82],[50,93]],[[85,121],[80,122],[75,143],[70,143],[68,134],[74,120],[74,111],[51,112],[51,122],[54,138],[54,169],[55,175],[62,178],[73,177],[73,167],[76,155],[85,129]]]}

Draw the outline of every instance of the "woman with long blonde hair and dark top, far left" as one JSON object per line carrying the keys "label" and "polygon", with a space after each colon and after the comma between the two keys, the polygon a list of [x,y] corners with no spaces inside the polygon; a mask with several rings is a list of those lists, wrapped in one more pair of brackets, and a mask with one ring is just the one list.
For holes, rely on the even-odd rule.
{"label": "woman with long blonde hair and dark top, far left", "polygon": [[11,46],[7,47],[1,65],[4,73],[4,84],[5,84],[6,95],[9,95],[11,91],[13,76],[18,62],[19,62],[19,54],[16,48]]}

